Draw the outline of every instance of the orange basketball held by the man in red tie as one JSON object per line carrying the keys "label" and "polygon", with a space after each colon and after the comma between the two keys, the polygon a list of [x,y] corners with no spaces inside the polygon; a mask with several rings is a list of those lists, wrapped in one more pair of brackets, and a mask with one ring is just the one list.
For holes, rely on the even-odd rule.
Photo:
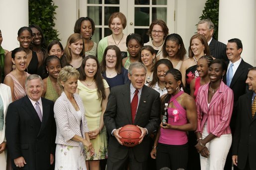
{"label": "orange basketball held by the man in red tie", "polygon": [[138,144],[139,136],[141,135],[140,129],[133,125],[127,124],[125,125],[119,132],[119,136],[122,137],[121,142],[123,145],[132,147]]}

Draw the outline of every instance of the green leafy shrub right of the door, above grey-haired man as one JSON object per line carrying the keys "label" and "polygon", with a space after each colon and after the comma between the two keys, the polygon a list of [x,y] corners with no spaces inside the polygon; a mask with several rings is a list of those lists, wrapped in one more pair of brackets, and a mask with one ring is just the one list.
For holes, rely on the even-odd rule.
{"label": "green leafy shrub right of the door, above grey-haired man", "polygon": [[211,19],[212,20],[212,22],[214,23],[213,38],[218,40],[219,0],[207,0],[205,2],[203,14],[199,18],[200,18],[200,20],[202,20],[202,19]]}

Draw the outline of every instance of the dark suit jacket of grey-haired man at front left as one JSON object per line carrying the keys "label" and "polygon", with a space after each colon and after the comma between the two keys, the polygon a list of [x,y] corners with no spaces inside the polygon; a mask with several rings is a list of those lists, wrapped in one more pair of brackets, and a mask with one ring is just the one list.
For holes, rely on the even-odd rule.
{"label": "dark suit jacket of grey-haired man at front left", "polygon": [[11,103],[6,113],[6,141],[12,168],[13,159],[24,157],[26,165],[19,170],[49,170],[50,154],[55,152],[56,124],[53,105],[42,99],[43,119],[40,121],[27,96]]}

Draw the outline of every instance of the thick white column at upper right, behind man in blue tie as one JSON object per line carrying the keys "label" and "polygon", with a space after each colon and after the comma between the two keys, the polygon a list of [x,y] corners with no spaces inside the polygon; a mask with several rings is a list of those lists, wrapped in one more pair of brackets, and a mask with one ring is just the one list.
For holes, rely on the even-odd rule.
{"label": "thick white column at upper right, behind man in blue tie", "polygon": [[220,0],[218,40],[224,44],[232,38],[243,43],[243,59],[255,65],[255,0]]}

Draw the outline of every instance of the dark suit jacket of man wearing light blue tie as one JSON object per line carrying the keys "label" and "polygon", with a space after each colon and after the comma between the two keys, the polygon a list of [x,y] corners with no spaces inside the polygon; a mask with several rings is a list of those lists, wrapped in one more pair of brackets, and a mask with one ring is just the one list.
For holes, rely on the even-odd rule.
{"label": "dark suit jacket of man wearing light blue tie", "polygon": [[[226,63],[228,65],[229,61],[227,61]],[[246,84],[246,79],[249,71],[248,69],[251,67],[253,66],[242,59],[230,83],[230,88],[233,90],[233,93],[234,93],[234,109],[233,109],[231,122],[230,122],[230,127],[232,132],[234,132],[236,128],[236,117],[237,117],[237,107],[238,107],[237,102],[239,97],[244,95],[247,92],[248,87]],[[223,81],[225,84],[227,84],[227,74],[224,75]]]}

